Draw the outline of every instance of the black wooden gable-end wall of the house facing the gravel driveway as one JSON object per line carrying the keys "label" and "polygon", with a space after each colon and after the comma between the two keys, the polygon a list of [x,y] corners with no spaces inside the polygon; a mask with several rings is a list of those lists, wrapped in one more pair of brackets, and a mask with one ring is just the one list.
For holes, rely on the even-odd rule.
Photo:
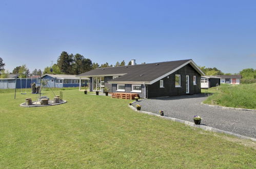
{"label": "black wooden gable-end wall of the house facing the gravel driveway", "polygon": [[[181,87],[175,87],[175,74],[181,75]],[[190,65],[175,71],[174,73],[164,77],[164,88],[160,88],[160,80],[152,85],[148,85],[147,97],[163,97],[176,96],[186,94],[186,75],[189,75],[189,94],[201,93],[201,75]],[[196,76],[196,85],[193,85],[193,76]]]}

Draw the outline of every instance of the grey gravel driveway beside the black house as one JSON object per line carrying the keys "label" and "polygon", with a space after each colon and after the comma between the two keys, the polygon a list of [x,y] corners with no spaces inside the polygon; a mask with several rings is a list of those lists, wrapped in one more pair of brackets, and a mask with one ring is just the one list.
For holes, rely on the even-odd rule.
{"label": "grey gravel driveway beside the black house", "polygon": [[[142,110],[193,122],[193,116],[203,119],[201,124],[224,131],[256,138],[256,112],[220,109],[200,103],[206,99],[205,94],[183,95],[140,100]],[[135,106],[137,102],[133,103]]]}

